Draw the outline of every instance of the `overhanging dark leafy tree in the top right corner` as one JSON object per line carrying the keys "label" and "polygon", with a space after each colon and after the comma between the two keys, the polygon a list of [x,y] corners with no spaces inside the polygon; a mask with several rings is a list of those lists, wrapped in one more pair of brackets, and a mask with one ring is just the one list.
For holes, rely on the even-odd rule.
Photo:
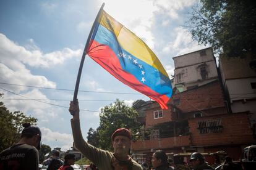
{"label": "overhanging dark leafy tree in the top right corner", "polygon": [[209,44],[216,54],[242,57],[256,54],[256,2],[201,0],[194,6],[188,26],[199,44]]}

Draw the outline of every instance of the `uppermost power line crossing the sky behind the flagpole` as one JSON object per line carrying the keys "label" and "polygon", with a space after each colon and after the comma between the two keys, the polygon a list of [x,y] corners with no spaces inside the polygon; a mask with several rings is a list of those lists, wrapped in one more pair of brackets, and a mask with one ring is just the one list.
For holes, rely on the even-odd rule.
{"label": "uppermost power line crossing the sky behind the flagpole", "polygon": [[[11,84],[11,83],[2,83],[0,84],[6,84],[11,86],[21,86],[21,87],[32,87],[32,88],[38,88],[38,89],[50,89],[50,90],[58,90],[58,91],[74,91],[73,89],[59,89],[59,88],[51,88],[51,87],[39,87],[39,86],[30,86],[30,85],[22,85],[22,84]],[[105,93],[105,94],[132,94],[132,95],[142,95],[140,93],[127,93],[127,92],[99,92],[99,91],[81,91],[79,92],[92,92],[92,93]]]}

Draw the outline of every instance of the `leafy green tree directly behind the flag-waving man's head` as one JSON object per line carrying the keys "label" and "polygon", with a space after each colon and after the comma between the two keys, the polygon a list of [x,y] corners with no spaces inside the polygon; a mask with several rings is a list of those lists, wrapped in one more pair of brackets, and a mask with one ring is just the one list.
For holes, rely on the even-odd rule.
{"label": "leafy green tree directly behind the flag-waving man's head", "polygon": [[[134,134],[139,128],[140,124],[137,122],[137,111],[132,107],[128,107],[124,102],[116,100],[114,103],[101,108],[100,113],[100,126],[96,131],[93,129],[89,132],[93,132],[95,139],[90,141],[98,140],[98,147],[111,150],[111,135],[118,128],[127,128]],[[89,133],[88,132],[88,133]]]}

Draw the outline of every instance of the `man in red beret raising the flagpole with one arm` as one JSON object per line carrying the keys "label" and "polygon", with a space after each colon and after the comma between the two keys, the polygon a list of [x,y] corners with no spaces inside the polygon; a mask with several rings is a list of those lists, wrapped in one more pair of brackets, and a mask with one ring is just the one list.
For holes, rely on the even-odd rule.
{"label": "man in red beret raising the flagpole with one arm", "polygon": [[88,144],[82,137],[79,120],[79,103],[70,102],[69,111],[73,118],[71,126],[75,148],[77,148],[90,161],[101,170],[142,170],[142,166],[129,156],[132,136],[128,129],[117,129],[111,136],[114,152],[101,150]]}

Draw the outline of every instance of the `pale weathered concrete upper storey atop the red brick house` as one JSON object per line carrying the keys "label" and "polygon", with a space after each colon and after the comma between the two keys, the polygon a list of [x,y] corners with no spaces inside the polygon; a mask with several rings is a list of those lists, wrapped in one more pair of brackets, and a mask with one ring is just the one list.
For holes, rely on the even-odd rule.
{"label": "pale weathered concrete upper storey atop the red brick house", "polygon": [[211,47],[173,57],[174,86],[179,92],[202,86],[218,79],[215,57]]}

